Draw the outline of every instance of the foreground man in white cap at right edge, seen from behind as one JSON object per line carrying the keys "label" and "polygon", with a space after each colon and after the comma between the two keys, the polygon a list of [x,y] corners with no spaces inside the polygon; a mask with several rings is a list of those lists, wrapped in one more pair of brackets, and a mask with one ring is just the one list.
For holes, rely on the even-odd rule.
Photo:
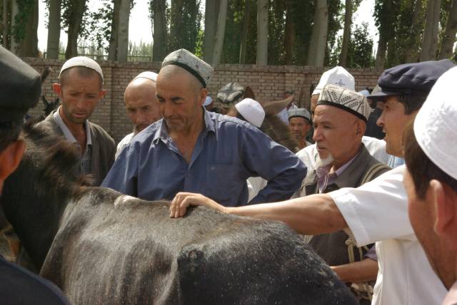
{"label": "foreground man in white cap at right edge, seen from behind", "polygon": [[443,305],[457,304],[456,79],[457,68],[438,79],[403,135],[409,218],[433,270],[450,289]]}

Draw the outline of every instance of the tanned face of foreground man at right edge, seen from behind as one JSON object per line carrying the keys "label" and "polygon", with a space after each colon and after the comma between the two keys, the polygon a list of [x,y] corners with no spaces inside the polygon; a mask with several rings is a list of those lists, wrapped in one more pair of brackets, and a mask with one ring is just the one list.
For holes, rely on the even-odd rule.
{"label": "tanned face of foreground man at right edge, seen from behind", "polygon": [[436,233],[436,196],[429,186],[425,198],[418,198],[408,170],[403,174],[403,184],[408,195],[411,226],[427,254],[431,267],[449,289],[456,281],[456,249],[450,249],[446,240]]}

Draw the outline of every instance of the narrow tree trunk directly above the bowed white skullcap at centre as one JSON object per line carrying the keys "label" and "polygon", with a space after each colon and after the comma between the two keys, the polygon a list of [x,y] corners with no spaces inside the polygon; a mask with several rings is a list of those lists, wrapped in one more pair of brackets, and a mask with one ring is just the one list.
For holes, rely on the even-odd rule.
{"label": "narrow tree trunk directly above the bowed white skullcap at centre", "polygon": [[268,63],[268,0],[257,0],[257,65]]}

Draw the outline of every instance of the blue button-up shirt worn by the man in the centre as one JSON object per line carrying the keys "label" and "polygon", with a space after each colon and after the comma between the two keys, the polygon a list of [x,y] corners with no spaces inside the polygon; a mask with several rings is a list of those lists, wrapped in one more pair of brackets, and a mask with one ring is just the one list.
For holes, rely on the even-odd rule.
{"label": "blue button-up shirt worn by the man in the centre", "polygon": [[159,120],[122,151],[102,186],[144,200],[197,192],[227,207],[246,205],[248,177],[268,180],[250,204],[286,200],[298,190],[306,167],[290,150],[236,118],[204,110],[204,122],[190,163]]}

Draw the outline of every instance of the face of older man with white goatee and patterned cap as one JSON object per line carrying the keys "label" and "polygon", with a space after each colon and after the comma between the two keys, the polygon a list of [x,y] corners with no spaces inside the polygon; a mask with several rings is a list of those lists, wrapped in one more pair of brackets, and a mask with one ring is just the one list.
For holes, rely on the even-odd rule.
{"label": "face of older man with white goatee and patterned cap", "polygon": [[344,164],[351,160],[361,145],[362,130],[357,128],[357,118],[345,110],[318,105],[314,112],[314,134],[319,157],[326,159],[330,154],[333,164]]}

